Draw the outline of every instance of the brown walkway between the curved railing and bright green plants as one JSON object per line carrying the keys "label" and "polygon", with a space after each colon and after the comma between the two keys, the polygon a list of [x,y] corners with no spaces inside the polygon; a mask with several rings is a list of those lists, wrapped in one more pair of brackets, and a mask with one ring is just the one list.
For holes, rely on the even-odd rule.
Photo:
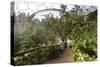
{"label": "brown walkway between the curved railing and bright green plants", "polygon": [[50,63],[69,63],[74,62],[73,53],[71,48],[66,48],[64,52],[56,59],[51,59],[46,62],[46,64]]}

